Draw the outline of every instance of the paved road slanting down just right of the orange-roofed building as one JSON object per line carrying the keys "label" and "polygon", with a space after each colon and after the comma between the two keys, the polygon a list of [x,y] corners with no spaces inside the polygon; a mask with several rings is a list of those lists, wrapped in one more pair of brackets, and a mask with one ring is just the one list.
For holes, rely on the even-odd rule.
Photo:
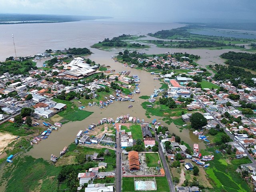
{"label": "paved road slanting down just right of the orange-roofed building", "polygon": [[166,158],[164,156],[164,149],[162,148],[162,145],[159,142],[158,135],[156,134],[155,130],[154,130],[154,132],[156,135],[156,141],[158,142],[158,148],[159,148],[158,152],[159,152],[160,158],[162,159],[163,168],[164,168],[165,176],[166,176],[168,184],[169,184],[170,191],[175,192],[174,184],[172,182],[172,175],[170,173],[169,166],[168,166],[168,164],[166,162]]}

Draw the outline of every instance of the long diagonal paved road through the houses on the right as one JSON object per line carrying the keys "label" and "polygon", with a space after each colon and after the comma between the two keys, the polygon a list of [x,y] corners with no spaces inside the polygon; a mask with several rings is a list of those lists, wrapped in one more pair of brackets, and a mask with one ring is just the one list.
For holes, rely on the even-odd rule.
{"label": "long diagonal paved road through the houses on the right", "polygon": [[[200,103],[200,105],[202,106],[202,108],[204,108],[204,110],[206,110],[206,112],[210,113],[212,115],[212,112],[210,110],[208,110],[208,108],[206,108],[204,106],[204,104],[198,99],[196,98],[195,94],[192,92],[192,94],[194,95],[194,98]],[[214,120],[220,125],[221,128],[224,129],[224,131],[226,132],[226,134],[228,134],[228,136],[230,136],[230,138],[233,141],[236,141],[233,134],[231,134],[228,130],[226,130],[226,127],[214,116],[212,115]],[[248,158],[252,161],[252,163],[250,164],[246,164],[246,165],[252,165],[252,166],[256,166],[256,161],[254,160],[254,158],[249,154],[249,152],[246,150],[246,148],[244,148],[244,146],[242,146],[242,144],[240,142],[236,142],[240,147],[242,147],[244,149],[245,154],[248,156]]]}

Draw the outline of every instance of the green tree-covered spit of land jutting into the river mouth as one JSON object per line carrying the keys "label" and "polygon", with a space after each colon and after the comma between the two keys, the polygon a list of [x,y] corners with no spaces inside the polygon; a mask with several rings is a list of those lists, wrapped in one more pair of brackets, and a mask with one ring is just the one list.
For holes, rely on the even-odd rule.
{"label": "green tree-covered spit of land jutting into the river mouth", "polygon": [[131,47],[131,48],[140,48],[145,47],[145,45],[139,44],[139,43],[129,43],[124,40],[132,39],[133,36],[122,34],[118,37],[114,37],[112,39],[105,38],[102,42],[98,42],[92,46],[92,48],[102,48],[102,47]]}

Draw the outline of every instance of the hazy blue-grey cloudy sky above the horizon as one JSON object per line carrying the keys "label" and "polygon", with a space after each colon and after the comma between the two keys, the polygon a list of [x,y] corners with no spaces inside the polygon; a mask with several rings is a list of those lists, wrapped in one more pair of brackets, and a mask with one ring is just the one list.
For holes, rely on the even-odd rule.
{"label": "hazy blue-grey cloudy sky above the horizon", "polygon": [[0,0],[0,13],[111,16],[142,22],[256,20],[256,0]]}

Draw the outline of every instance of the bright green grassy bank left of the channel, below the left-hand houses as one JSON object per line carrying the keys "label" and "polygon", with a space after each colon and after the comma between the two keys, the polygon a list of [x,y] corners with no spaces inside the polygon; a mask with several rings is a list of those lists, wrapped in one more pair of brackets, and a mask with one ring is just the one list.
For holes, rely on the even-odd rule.
{"label": "bright green grassy bank left of the channel, below the left-hand houses", "polygon": [[66,110],[58,113],[59,116],[63,117],[65,122],[68,121],[82,121],[88,116],[90,116],[93,112],[89,112],[86,110],[80,110],[78,107],[70,101],[53,99],[55,102],[64,103],[67,105]]}

